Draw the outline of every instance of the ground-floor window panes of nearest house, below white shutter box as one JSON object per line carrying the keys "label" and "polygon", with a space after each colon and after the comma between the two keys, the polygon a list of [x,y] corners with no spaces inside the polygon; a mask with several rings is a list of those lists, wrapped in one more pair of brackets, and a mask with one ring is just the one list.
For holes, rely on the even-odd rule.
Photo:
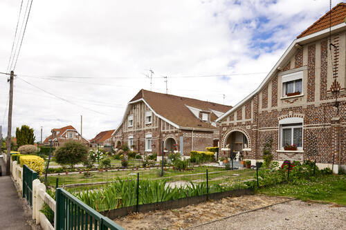
{"label": "ground-floor window panes of nearest house, below white shutter box", "polygon": [[281,148],[287,145],[295,145],[302,149],[302,123],[280,125]]}

